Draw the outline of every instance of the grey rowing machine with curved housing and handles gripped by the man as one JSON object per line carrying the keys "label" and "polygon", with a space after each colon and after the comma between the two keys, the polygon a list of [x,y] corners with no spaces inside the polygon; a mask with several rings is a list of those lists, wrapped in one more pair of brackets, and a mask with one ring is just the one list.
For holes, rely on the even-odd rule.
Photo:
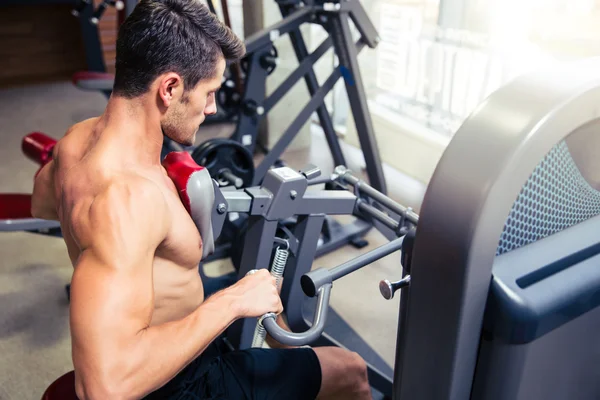
{"label": "grey rowing machine with curved housing and handles gripped by the man", "polygon": [[[402,279],[380,283],[385,298],[401,290],[393,380],[369,366],[382,393],[395,400],[598,398],[600,192],[564,150],[569,135],[600,125],[598,71],[600,59],[561,64],[493,93],[444,152],[420,215],[343,167],[329,180],[350,190],[309,190],[314,168],[271,169],[260,187],[213,182],[216,235],[227,214],[250,214],[240,276],[267,265],[274,245],[289,246],[282,301],[292,333],[272,315],[260,326],[282,343],[342,345],[327,335],[333,282],[400,250]],[[293,235],[275,237],[290,212],[301,216]],[[395,238],[341,266],[312,269],[310,232],[322,213],[360,213]],[[0,229],[49,224],[13,222]],[[307,301],[313,316],[299,316],[298,303]],[[233,325],[230,342],[250,346],[256,323]]]}

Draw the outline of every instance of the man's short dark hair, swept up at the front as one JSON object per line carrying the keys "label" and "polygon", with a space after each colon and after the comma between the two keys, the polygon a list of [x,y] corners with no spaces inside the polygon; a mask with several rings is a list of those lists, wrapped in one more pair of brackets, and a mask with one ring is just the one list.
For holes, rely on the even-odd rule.
{"label": "man's short dark hair, swept up at the front", "polygon": [[244,43],[200,0],[141,0],[119,29],[115,95],[146,93],[165,72],[177,72],[185,90],[215,76],[217,62],[244,56]]}

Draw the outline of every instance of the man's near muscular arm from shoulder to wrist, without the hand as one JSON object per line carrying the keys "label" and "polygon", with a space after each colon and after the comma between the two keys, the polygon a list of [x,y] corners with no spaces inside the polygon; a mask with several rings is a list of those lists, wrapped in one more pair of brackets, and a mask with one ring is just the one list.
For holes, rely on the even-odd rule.
{"label": "man's near muscular arm from shoulder to wrist, without the hand", "polygon": [[72,352],[82,400],[145,396],[238,318],[236,296],[224,291],[181,320],[149,326],[154,252],[170,224],[162,196],[152,183],[121,182],[72,221],[84,249],[71,285]]}

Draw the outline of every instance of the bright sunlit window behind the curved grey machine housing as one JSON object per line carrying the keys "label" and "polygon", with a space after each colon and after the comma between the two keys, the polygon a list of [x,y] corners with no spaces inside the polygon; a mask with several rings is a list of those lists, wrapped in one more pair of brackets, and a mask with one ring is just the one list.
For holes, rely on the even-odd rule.
{"label": "bright sunlit window behind the curved grey machine housing", "polygon": [[[382,38],[359,57],[382,158],[424,183],[490,93],[528,71],[600,53],[596,0],[361,3]],[[358,144],[347,100],[333,106]]]}

